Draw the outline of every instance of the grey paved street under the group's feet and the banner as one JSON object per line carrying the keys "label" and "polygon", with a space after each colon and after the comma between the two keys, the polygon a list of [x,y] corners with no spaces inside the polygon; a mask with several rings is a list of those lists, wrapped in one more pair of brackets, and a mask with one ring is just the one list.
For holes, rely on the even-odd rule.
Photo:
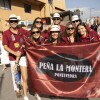
{"label": "grey paved street under the group's feet and the banner", "polygon": [[[36,100],[36,98],[29,95],[30,100]],[[16,98],[13,91],[12,79],[10,73],[10,67],[2,71],[2,66],[0,66],[0,100],[23,100],[23,98]],[[50,98],[42,97],[42,100],[51,100]],[[100,100],[100,99],[52,99],[52,100]]]}

